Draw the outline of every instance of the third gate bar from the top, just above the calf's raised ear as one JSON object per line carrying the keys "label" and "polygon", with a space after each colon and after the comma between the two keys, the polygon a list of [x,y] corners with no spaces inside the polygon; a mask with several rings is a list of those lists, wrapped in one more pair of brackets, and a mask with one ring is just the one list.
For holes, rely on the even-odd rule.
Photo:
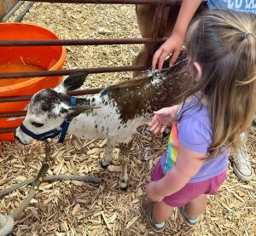
{"label": "third gate bar from the top, just above the calf's raised ear", "polygon": [[147,68],[144,65],[110,66],[110,67],[84,68],[84,69],[60,70],[60,71],[0,73],[0,78],[35,78],[35,77],[69,75],[76,72],[89,72],[90,74],[92,73],[97,74],[97,73],[108,73],[108,72],[143,71],[145,69]]}

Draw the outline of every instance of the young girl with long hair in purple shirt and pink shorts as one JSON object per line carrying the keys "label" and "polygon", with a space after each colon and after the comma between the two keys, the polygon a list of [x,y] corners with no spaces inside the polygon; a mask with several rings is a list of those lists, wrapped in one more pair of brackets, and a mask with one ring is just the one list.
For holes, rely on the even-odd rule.
{"label": "young girl with long hair in purple shirt and pink shorts", "polygon": [[230,153],[241,146],[241,133],[255,112],[255,14],[209,10],[192,23],[186,38],[195,86],[183,104],[154,112],[149,124],[159,133],[175,121],[142,200],[155,232],[164,229],[173,207],[189,226],[198,222],[207,194],[218,192]]}

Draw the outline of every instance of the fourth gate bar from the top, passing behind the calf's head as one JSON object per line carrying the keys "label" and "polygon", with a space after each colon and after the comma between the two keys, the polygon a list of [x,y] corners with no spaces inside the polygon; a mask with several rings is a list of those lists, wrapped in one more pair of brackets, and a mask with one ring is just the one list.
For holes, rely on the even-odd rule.
{"label": "fourth gate bar from the top, passing behind the calf's head", "polygon": [[[96,88],[96,89],[79,89],[75,91],[70,91],[67,94],[71,96],[79,96],[79,95],[93,95],[99,93],[104,88]],[[32,95],[23,95],[23,96],[9,96],[9,97],[0,97],[0,102],[11,102],[11,101],[29,101],[31,100]],[[4,114],[4,113],[2,113]],[[1,113],[0,113],[1,116]]]}

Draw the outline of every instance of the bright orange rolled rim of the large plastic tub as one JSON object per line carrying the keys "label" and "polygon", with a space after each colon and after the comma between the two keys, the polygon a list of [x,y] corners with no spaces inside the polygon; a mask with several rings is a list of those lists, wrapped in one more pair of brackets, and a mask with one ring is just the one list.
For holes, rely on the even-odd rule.
{"label": "bright orange rolled rim of the large plastic tub", "polygon": [[[33,24],[28,24],[28,23],[21,23],[21,22],[2,22],[0,23],[0,26],[1,25],[9,25],[9,26],[12,26],[12,25],[22,25],[22,26],[32,26],[32,27],[36,27],[36,28],[39,28],[45,32],[49,32],[50,34],[52,34],[55,39],[60,39],[60,37],[55,34],[55,32],[52,32],[50,31],[49,29],[47,28],[44,28],[42,26],[37,26],[37,25],[33,25]],[[38,46],[40,47],[40,46]],[[55,71],[56,68],[60,67],[62,63],[64,63],[66,57],[67,57],[67,50],[66,50],[66,47],[65,46],[60,46],[61,47],[61,56],[59,58],[59,60],[56,61],[55,65],[50,67],[48,69],[48,71]],[[51,79],[49,77],[36,77],[36,78],[31,78],[29,80],[26,80],[22,83],[16,83],[14,85],[9,85],[9,86],[4,86],[4,87],[0,87],[0,93],[1,95],[0,96],[4,96],[6,95],[6,93],[9,94],[9,91],[12,90],[13,93],[15,93],[17,90],[20,90],[22,89],[23,87],[28,87],[28,86],[31,86],[33,83],[41,83],[43,80],[45,81],[45,79]]]}

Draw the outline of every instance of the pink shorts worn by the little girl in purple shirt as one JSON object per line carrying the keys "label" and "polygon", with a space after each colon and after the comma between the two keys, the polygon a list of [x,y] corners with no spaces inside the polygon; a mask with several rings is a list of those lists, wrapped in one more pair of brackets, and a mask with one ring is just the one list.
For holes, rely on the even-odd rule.
{"label": "pink shorts worn by the little girl in purple shirt", "polygon": [[[164,175],[160,167],[160,161],[155,165],[152,181],[160,180]],[[214,176],[207,181],[188,183],[181,190],[163,199],[163,201],[173,207],[180,207],[188,204],[191,200],[198,198],[201,194],[214,195],[218,193],[218,188],[222,185],[227,176],[227,170],[218,176]]]}

